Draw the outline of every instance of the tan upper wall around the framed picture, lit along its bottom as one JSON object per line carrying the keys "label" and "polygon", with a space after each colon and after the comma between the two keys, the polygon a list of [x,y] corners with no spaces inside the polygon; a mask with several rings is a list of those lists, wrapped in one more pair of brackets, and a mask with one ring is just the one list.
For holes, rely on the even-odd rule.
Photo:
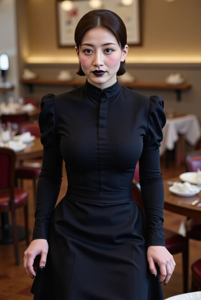
{"label": "tan upper wall around the framed picture, lit along its bottom", "polygon": [[[27,1],[27,62],[76,63],[74,48],[57,46],[55,0]],[[201,62],[201,1],[141,2],[143,46],[130,46],[127,62]]]}

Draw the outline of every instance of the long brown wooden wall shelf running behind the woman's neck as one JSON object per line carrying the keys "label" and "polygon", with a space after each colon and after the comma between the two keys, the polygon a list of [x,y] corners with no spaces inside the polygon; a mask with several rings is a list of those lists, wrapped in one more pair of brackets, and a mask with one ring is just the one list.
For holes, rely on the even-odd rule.
{"label": "long brown wooden wall shelf running behind the woman's neck", "polygon": [[[57,79],[20,79],[23,84],[29,85],[30,92],[33,92],[33,85],[68,85],[72,87],[78,87],[85,83],[85,80],[71,80],[71,81],[59,81]],[[177,101],[181,101],[181,92],[188,90],[192,87],[190,83],[182,83],[179,85],[170,85],[166,82],[142,82],[135,81],[131,83],[123,83],[119,80],[120,84],[127,88],[148,88],[148,89],[162,89],[162,90],[173,90],[176,92]]]}

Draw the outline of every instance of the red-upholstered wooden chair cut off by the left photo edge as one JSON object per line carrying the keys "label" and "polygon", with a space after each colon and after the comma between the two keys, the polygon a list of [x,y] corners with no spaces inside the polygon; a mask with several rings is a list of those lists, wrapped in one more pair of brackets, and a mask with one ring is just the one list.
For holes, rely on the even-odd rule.
{"label": "red-upholstered wooden chair cut off by the left photo edge", "polygon": [[16,209],[20,207],[24,208],[25,235],[28,245],[28,193],[25,190],[15,187],[15,161],[16,155],[13,150],[0,148],[0,213],[11,212],[15,263],[19,265]]}

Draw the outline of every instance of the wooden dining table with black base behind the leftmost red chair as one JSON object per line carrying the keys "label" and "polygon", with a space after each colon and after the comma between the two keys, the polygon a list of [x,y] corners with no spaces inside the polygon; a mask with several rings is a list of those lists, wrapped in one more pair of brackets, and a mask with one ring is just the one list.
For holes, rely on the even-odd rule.
{"label": "wooden dining table with black base behind the leftmost red chair", "polygon": [[[16,164],[25,159],[33,159],[37,157],[42,157],[43,146],[40,142],[40,138],[37,138],[27,145],[27,147],[19,152],[16,152]],[[25,227],[17,226],[18,230],[18,240],[22,241],[25,239]],[[13,230],[12,226],[9,224],[8,213],[1,213],[1,226],[0,226],[0,244],[7,244],[13,242]]]}

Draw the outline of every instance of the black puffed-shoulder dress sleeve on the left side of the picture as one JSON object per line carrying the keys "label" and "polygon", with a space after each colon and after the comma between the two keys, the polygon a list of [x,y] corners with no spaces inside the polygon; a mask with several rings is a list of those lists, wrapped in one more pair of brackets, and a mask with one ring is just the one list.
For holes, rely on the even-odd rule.
{"label": "black puffed-shoulder dress sleeve on the left side of the picture", "polygon": [[63,158],[55,128],[55,95],[47,94],[41,101],[39,127],[43,145],[42,170],[36,192],[36,212],[33,238],[48,240],[49,221],[59,196],[62,182]]}

